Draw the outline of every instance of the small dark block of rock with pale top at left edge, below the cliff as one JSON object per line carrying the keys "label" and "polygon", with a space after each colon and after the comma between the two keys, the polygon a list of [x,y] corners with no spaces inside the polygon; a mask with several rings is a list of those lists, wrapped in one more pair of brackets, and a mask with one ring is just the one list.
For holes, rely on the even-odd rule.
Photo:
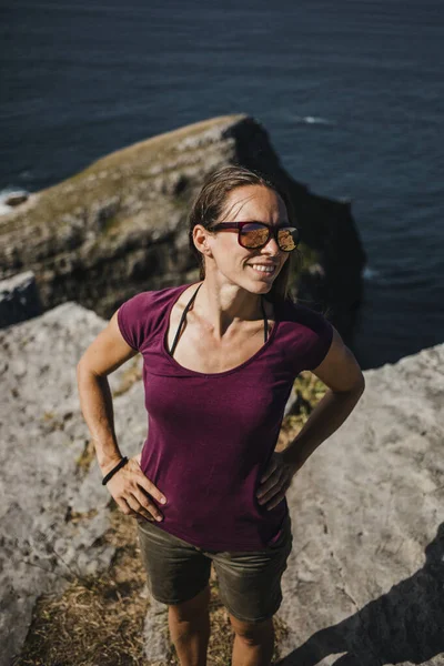
{"label": "small dark block of rock with pale top at left edge, below the cliff", "polygon": [[41,313],[42,305],[32,271],[0,282],[0,329]]}

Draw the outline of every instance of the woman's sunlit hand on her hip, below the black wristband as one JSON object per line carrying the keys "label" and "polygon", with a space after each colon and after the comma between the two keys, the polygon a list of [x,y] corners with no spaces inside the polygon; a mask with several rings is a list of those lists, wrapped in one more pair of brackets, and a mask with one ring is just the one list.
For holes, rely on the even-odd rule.
{"label": "woman's sunlit hand on her hip, below the black wristband", "polygon": [[164,504],[167,498],[143,474],[140,467],[140,454],[130,458],[119,472],[115,472],[107,483],[107,487],[127,516],[133,516],[138,521],[163,521],[163,515],[152,498],[154,497],[160,504]]}

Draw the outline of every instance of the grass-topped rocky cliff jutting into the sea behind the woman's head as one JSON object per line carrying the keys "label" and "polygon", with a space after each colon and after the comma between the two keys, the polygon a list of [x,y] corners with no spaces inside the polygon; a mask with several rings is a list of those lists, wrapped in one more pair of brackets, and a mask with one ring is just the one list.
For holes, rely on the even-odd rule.
{"label": "grass-topped rocky cliff jutting into the sea behind the woman's head", "polygon": [[344,335],[365,261],[347,204],[312,194],[282,168],[266,131],[230,115],[117,151],[0,218],[0,279],[31,270],[44,309],[77,301],[110,317],[138,291],[198,279],[186,215],[203,179],[230,163],[283,182],[302,229],[297,296],[331,307]]}

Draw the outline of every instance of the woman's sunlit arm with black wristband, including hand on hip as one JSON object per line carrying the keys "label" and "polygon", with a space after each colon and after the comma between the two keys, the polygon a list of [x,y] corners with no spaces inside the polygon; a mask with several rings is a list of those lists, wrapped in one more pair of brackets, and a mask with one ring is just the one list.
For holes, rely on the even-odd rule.
{"label": "woman's sunlit arm with black wristband, including hand on hip", "polygon": [[[80,406],[91,433],[99,466],[103,476],[122,455],[114,431],[112,396],[107,376],[138,352],[130,347],[120,333],[117,313],[80,359],[77,366]],[[152,484],[131,458],[107,484],[111,495],[127,515],[144,516],[148,519],[162,514],[150,502],[149,495],[162,503],[162,493]]]}

